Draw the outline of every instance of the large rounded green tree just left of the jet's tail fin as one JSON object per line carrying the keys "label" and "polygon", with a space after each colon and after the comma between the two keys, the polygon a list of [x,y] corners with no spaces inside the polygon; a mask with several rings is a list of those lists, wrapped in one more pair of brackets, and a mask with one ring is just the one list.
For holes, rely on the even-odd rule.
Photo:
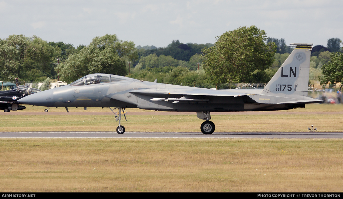
{"label": "large rounded green tree just left of the jet's tail fin", "polygon": [[214,47],[204,48],[203,68],[209,81],[249,82],[256,70],[265,70],[274,61],[275,43],[266,44],[264,30],[240,27],[217,38]]}

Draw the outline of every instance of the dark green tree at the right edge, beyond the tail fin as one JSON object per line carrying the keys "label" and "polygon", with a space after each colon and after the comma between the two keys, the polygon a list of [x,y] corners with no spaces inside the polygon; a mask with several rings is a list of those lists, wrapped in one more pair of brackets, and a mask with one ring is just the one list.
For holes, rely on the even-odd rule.
{"label": "dark green tree at the right edge, beyond the tail fin", "polygon": [[322,67],[322,76],[319,78],[322,85],[327,83],[336,85],[340,82],[342,90],[343,83],[343,53],[335,52],[330,55],[331,60]]}

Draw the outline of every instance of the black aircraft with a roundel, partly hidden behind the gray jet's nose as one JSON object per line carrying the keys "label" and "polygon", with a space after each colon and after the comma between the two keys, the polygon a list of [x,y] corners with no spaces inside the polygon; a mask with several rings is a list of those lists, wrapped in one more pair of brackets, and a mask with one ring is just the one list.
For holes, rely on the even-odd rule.
{"label": "black aircraft with a roundel, partly hidden behind the gray jet's nose", "polygon": [[18,102],[18,99],[39,91],[39,89],[34,89],[23,85],[19,85],[17,88],[7,91],[0,91],[0,109],[4,112],[10,112],[11,110],[23,110],[26,107],[19,105],[22,103]]}

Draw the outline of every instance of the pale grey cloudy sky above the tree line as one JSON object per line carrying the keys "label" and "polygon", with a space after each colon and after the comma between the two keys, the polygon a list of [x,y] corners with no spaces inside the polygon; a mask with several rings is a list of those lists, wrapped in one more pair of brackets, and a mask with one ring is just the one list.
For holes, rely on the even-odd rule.
{"label": "pale grey cloudy sky above the tree line", "polygon": [[251,25],[286,44],[343,39],[343,1],[335,0],[0,0],[0,19],[0,39],[35,35],[74,47],[106,34],[136,46],[214,43]]}

